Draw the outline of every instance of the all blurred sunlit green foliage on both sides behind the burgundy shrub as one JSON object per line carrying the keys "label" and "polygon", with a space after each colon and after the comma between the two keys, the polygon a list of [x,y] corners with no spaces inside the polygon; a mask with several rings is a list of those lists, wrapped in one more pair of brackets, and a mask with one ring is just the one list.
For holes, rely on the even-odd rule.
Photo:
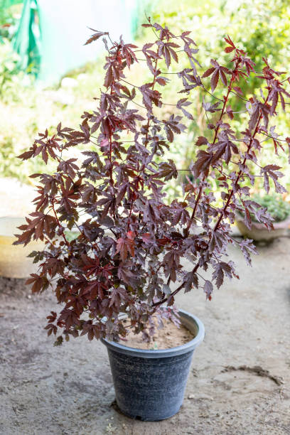
{"label": "all blurred sunlit green foliage on both sides behind the burgundy shrub", "polygon": [[[8,4],[10,1],[0,0],[0,25],[11,22],[11,28],[13,28],[16,20],[15,11],[19,11],[19,5],[4,9],[1,8],[4,3]],[[152,17],[153,21],[159,21],[161,24],[166,23],[177,33],[181,33],[184,28],[191,30],[193,39],[202,47],[196,57],[203,70],[209,66],[210,53],[222,53],[222,38],[227,33],[240,48],[244,48],[254,59],[257,70],[262,65],[262,59],[257,53],[264,53],[274,68],[279,69],[281,63],[283,63],[284,68],[285,65],[290,65],[290,8],[288,0],[257,0],[254,2],[252,0],[208,0],[205,2],[146,0],[139,1],[138,5],[139,22],[146,21],[146,13]],[[11,31],[9,30],[9,32]],[[141,28],[141,31],[137,33],[136,43],[139,44],[145,35],[149,34],[148,29]],[[228,56],[225,53],[219,55],[219,61],[222,65],[227,65],[227,59]],[[16,60],[16,57],[11,54],[9,43],[6,41],[6,44],[0,44],[0,109],[1,113],[4,113],[4,117],[0,119],[0,165],[4,171],[2,172],[4,176],[14,174],[13,176],[25,181],[29,173],[41,171],[43,163],[36,161],[33,163],[33,168],[31,162],[28,162],[27,166],[22,163],[19,171],[15,156],[28,149],[37,131],[46,125],[55,127],[58,119],[70,127],[77,127],[82,110],[85,107],[92,109],[94,107],[95,102],[92,101],[91,95],[96,95],[100,87],[100,63],[102,62],[90,63],[69,73],[67,76],[74,78],[76,82],[72,89],[59,84],[49,90],[37,90],[33,82],[24,85],[23,75],[16,71]],[[178,68],[173,63],[170,71],[173,73],[181,68],[186,68],[186,64],[180,61]],[[134,77],[131,77],[131,81],[139,85],[144,74],[146,74],[146,70],[140,62],[139,70]],[[176,77],[173,74],[166,75],[166,77],[170,78],[171,86],[164,92],[164,101],[169,104],[175,103],[176,99],[171,90],[175,88]],[[252,94],[257,80],[259,79],[251,77],[249,84],[242,85],[245,97]],[[216,95],[222,97],[222,93],[219,92]],[[186,168],[188,161],[195,160],[197,136],[208,134],[206,133],[208,121],[202,109],[203,98],[207,102],[214,102],[210,95],[195,92],[194,104],[190,106],[194,120],[188,126],[188,131],[172,144],[171,151],[166,151],[168,158],[174,158],[177,162],[178,168]],[[232,109],[235,112],[240,112],[243,102],[242,100],[239,102],[237,98],[234,100],[230,102]],[[288,107],[286,107],[286,112],[287,110]],[[164,116],[172,111],[173,108],[168,106]],[[242,131],[245,127],[245,119],[244,113],[235,114],[235,128],[237,130]],[[290,136],[290,133],[287,132],[289,130],[288,124],[286,115],[284,117],[282,115],[277,123],[276,132],[283,133],[283,136]],[[265,141],[263,146],[264,160],[260,162],[262,166],[265,161],[271,160],[276,163],[277,159],[274,156],[272,141]],[[8,148],[4,151],[5,147]],[[8,160],[4,162],[4,159]],[[281,156],[279,165],[285,168],[286,163],[286,156]],[[166,191],[168,201],[172,200],[174,196],[181,195],[181,181],[185,177],[186,174],[182,173],[178,177],[178,181],[168,183]],[[262,179],[260,181],[258,178],[255,188],[258,189],[261,184]],[[286,172],[284,184],[288,188],[290,187],[290,173]],[[213,185],[213,190],[215,191],[217,188],[218,182]]]}

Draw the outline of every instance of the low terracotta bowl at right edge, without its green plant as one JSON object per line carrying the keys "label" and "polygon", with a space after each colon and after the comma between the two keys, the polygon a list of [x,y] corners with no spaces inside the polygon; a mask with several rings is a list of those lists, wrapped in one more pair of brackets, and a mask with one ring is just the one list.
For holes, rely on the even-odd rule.
{"label": "low terracotta bowl at right edge, without its green plant", "polygon": [[236,216],[236,224],[242,236],[257,241],[273,240],[276,239],[276,237],[283,237],[290,233],[290,217],[281,222],[273,222],[274,230],[271,231],[267,230],[267,228],[259,222],[252,222],[252,229],[249,230],[240,215]]}

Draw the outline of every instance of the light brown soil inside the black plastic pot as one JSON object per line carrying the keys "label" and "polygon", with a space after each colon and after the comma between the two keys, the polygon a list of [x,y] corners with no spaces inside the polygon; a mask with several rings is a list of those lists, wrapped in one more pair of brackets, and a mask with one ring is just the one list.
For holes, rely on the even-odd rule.
{"label": "light brown soil inside the black plastic pot", "polygon": [[[129,321],[124,320],[123,323],[127,326]],[[163,321],[163,325],[163,328],[156,328],[150,342],[143,340],[142,333],[134,334],[131,330],[121,344],[129,348],[160,350],[181,346],[194,338],[194,335],[183,325],[178,328],[172,321]]]}

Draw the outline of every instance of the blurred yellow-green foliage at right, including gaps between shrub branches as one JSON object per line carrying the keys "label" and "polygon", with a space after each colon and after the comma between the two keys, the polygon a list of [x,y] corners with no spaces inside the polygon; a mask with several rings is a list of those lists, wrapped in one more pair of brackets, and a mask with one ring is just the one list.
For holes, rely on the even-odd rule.
{"label": "blurred yellow-green foliage at right, including gaps between shrub branches", "polygon": [[[191,36],[197,43],[202,46],[198,52],[197,58],[203,70],[210,67],[209,60],[211,53],[221,53],[218,61],[221,65],[229,66],[227,63],[226,53],[222,54],[223,38],[229,34],[239,48],[244,49],[249,57],[256,63],[256,70],[262,70],[262,57],[259,53],[264,53],[269,59],[269,63],[277,70],[290,70],[290,7],[288,0],[209,0],[198,2],[195,0],[180,0],[178,3],[173,0],[153,1],[152,19],[161,24],[165,24],[173,31],[181,32],[184,28],[189,28]],[[145,31],[144,31],[145,32]],[[288,68],[287,68],[288,67]],[[183,65],[186,68],[186,65]],[[180,68],[179,68],[180,69]],[[174,69],[172,68],[172,72]],[[171,78],[171,76],[170,76]],[[208,83],[210,80],[208,81]],[[241,85],[245,98],[249,98],[254,93],[254,88],[259,89],[259,79],[250,77],[248,83]],[[210,89],[210,85],[208,86]],[[222,93],[215,92],[215,95],[222,98]],[[233,95],[235,97],[235,95]],[[181,168],[183,162],[195,160],[196,147],[195,141],[197,136],[207,135],[208,120],[204,117],[203,110],[200,110],[201,104],[205,101],[216,102],[210,95],[199,97],[195,92],[195,113],[194,121],[191,123],[188,132],[179,138],[176,144],[180,156]],[[172,102],[171,95],[168,95],[166,101]],[[240,112],[244,102],[233,98],[230,101],[234,112]],[[191,106],[193,107],[193,106]],[[289,122],[287,121],[288,107],[286,114],[282,114],[279,122],[276,124],[276,133],[282,136],[290,136]],[[235,128],[243,131],[245,128],[245,113],[235,113]],[[262,166],[266,161],[276,163],[278,159],[274,156],[274,145],[271,140],[264,141],[264,152],[262,160],[259,162]],[[279,165],[286,168],[286,156],[279,158]],[[184,174],[183,177],[184,178]],[[290,188],[290,173],[286,171],[284,185]],[[216,190],[218,184],[213,185]],[[262,187],[262,179],[257,179],[255,183],[257,189]],[[168,195],[180,193],[181,188],[176,185],[168,187]]]}

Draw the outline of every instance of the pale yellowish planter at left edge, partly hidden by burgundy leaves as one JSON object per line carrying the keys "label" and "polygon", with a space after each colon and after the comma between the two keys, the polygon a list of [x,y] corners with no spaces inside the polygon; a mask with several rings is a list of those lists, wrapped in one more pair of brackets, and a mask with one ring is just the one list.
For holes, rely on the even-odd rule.
{"label": "pale yellowish planter at left edge, partly hidden by burgundy leaves", "polygon": [[24,218],[0,218],[0,276],[27,278],[38,269],[38,264],[33,264],[33,258],[27,256],[32,251],[41,251],[44,247],[43,242],[32,240],[26,247],[12,245],[17,240],[14,234],[20,232],[17,227],[24,223]]}

